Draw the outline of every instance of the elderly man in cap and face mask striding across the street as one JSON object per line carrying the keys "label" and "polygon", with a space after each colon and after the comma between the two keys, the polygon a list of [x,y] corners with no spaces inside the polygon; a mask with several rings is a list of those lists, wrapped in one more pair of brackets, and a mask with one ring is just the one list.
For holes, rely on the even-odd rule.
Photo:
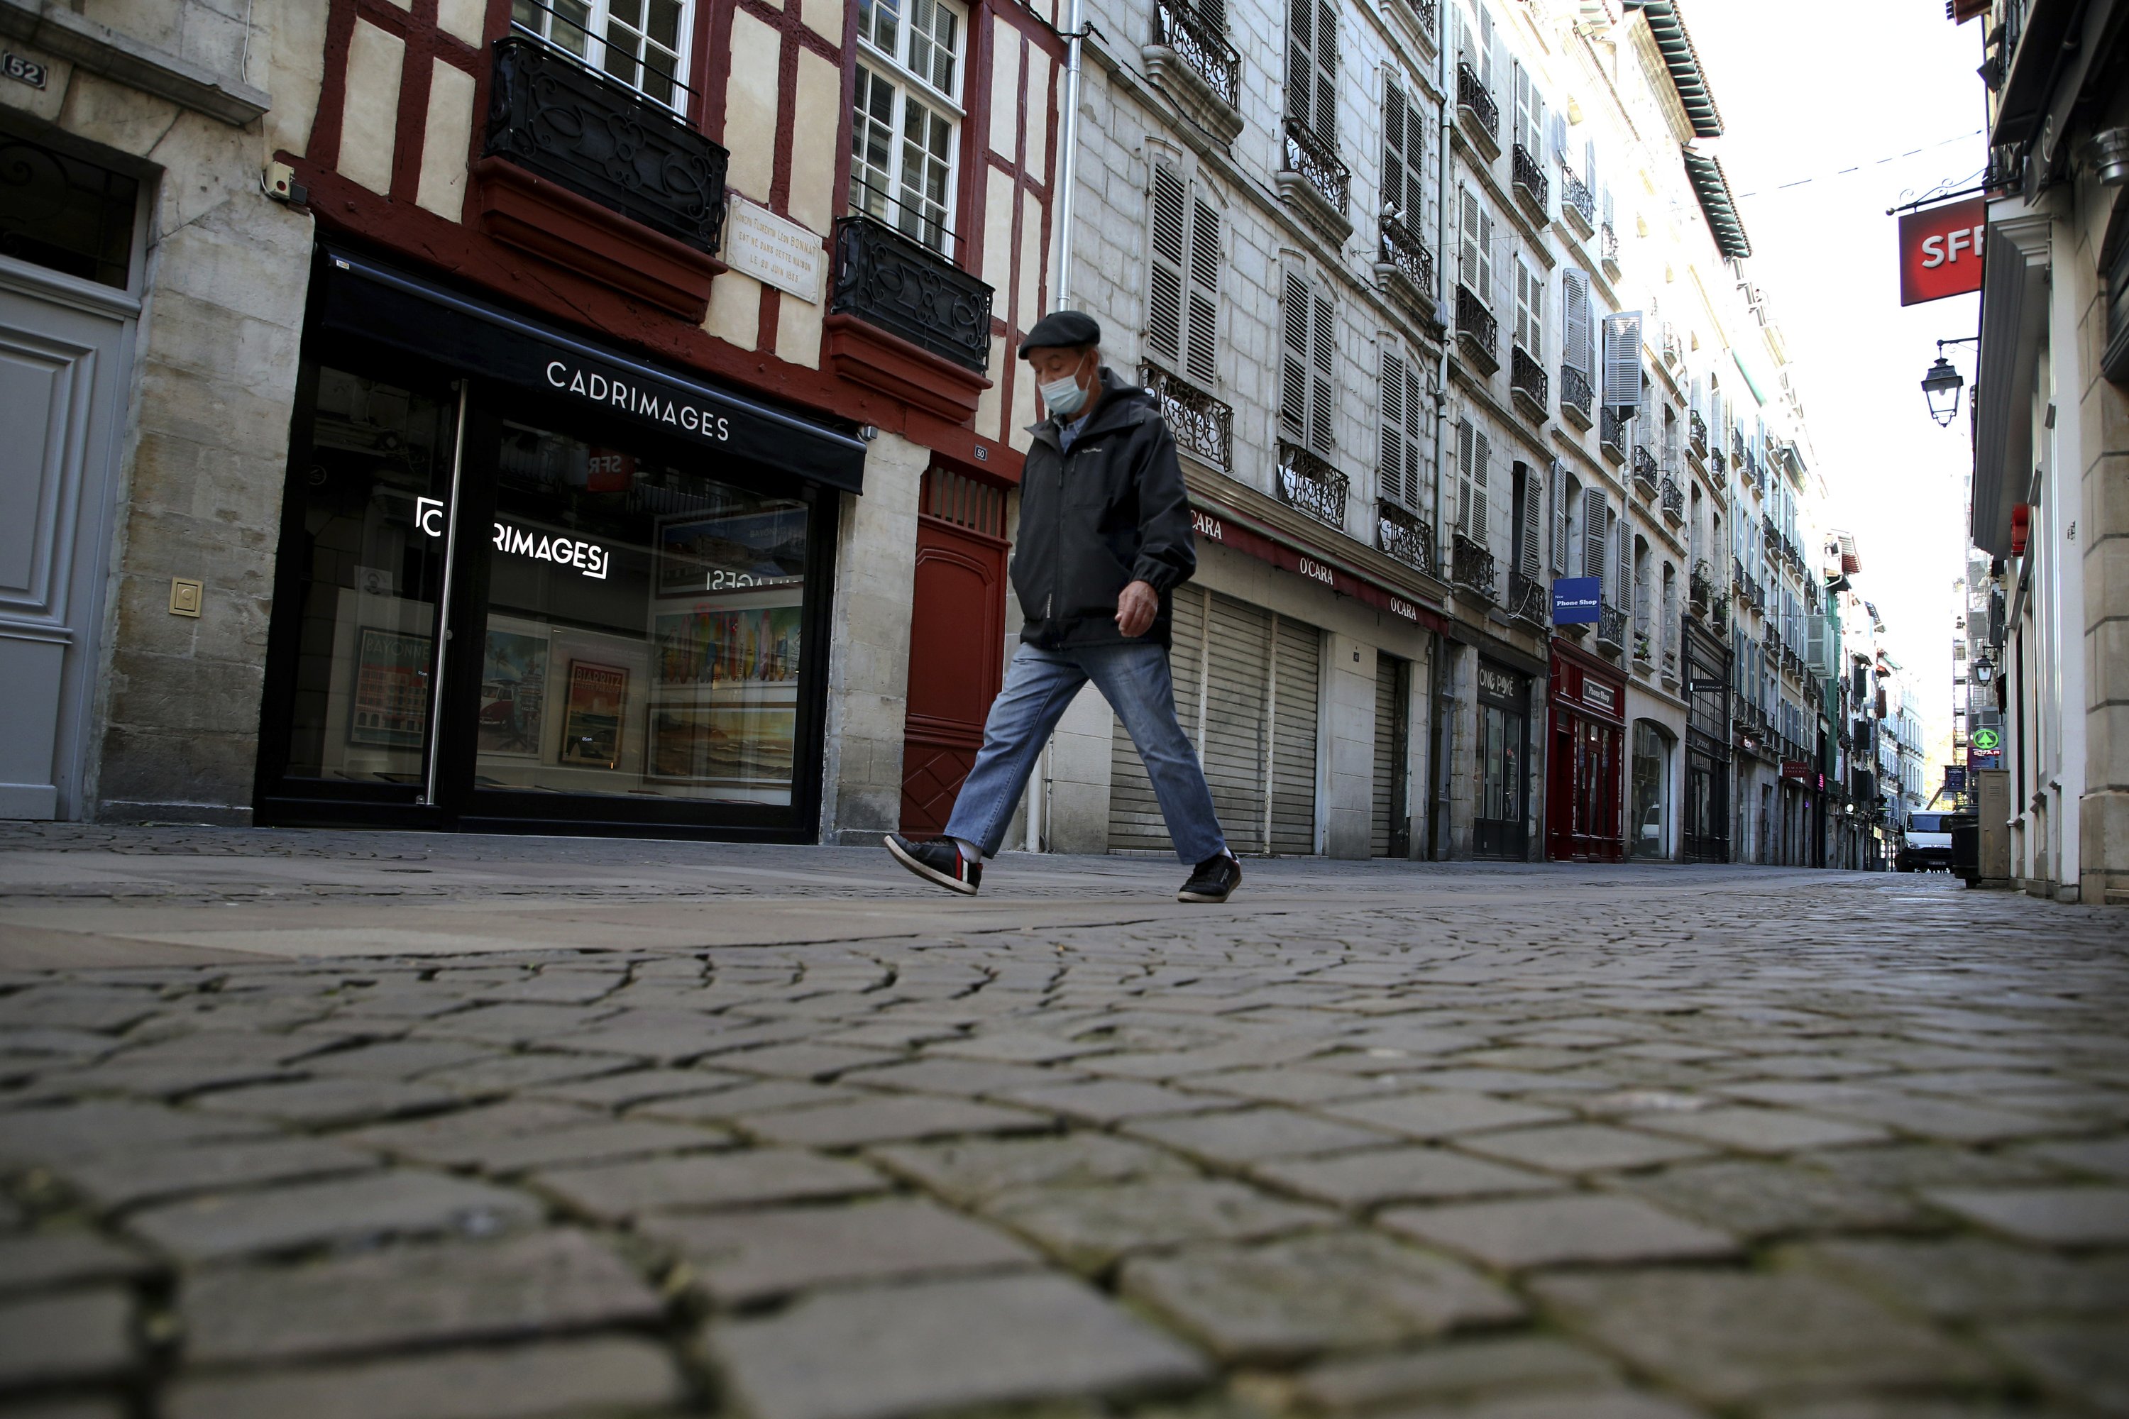
{"label": "elderly man in cap and face mask striding across the street", "polygon": [[888,834],[888,851],[918,877],[975,896],[1035,757],[1094,681],[1145,762],[1175,855],[1190,864],[1175,898],[1224,902],[1241,864],[1220,834],[1169,681],[1169,596],[1196,570],[1190,500],[1152,396],[1118,381],[1099,347],[1101,325],[1079,311],[1045,315],[1020,343],[1050,415],[1030,430],[1020,474],[1020,651],[945,834]]}

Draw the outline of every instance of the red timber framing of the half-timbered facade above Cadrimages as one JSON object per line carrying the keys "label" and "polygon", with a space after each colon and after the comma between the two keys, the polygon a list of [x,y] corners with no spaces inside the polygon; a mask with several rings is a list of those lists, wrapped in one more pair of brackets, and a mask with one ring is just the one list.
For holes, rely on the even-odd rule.
{"label": "red timber framing of the half-timbered facade above Cadrimages", "polygon": [[[439,17],[443,6],[445,17]],[[479,45],[451,28],[466,30],[460,19],[479,6]],[[796,72],[801,53],[813,53],[841,74],[841,102],[835,123],[835,211],[843,211],[849,189],[849,106],[856,53],[856,0],[843,6],[841,43],[830,43],[803,21],[803,11],[820,17],[822,0],[696,0],[692,13],[694,43],[688,83],[696,91],[686,115],[709,138],[728,149],[741,143],[773,143],[773,177],[769,206],[790,217],[792,153],[796,149]],[[1041,0],[1043,11],[1054,0]],[[690,289],[696,298],[724,270],[720,262],[669,240],[626,217],[596,204],[573,200],[571,194],[532,194],[539,179],[496,181],[466,174],[458,213],[430,211],[434,191],[443,189],[439,172],[473,168],[485,136],[490,102],[488,45],[511,32],[509,0],[330,0],[324,36],[324,72],[317,115],[302,151],[281,149],[279,162],[294,168],[296,181],[309,189],[309,206],[328,234],[356,236],[370,247],[398,253],[430,270],[492,291],[513,304],[566,323],[596,330],[624,340],[654,357],[700,370],[713,379],[756,389],[779,400],[809,406],[824,415],[871,423],[884,432],[903,434],[933,449],[952,464],[979,470],[986,477],[1016,483],[1022,453],[1013,447],[1016,396],[1026,372],[1013,360],[1020,332],[1035,323],[1047,298],[1050,221],[1054,211],[1058,72],[1064,40],[1050,21],[1018,0],[971,0],[969,40],[964,49],[967,79],[962,83],[964,121],[960,128],[960,166],[956,194],[956,232],[962,234],[956,264],[977,277],[992,279],[992,362],[986,391],[973,419],[947,419],[937,408],[926,411],[905,398],[845,379],[835,364],[822,368],[777,355],[777,325],[786,298],[773,287],[760,291],[758,328],[752,347],[722,340],[703,328],[700,317],[683,317]],[[777,128],[775,134],[726,132],[726,85],[730,79],[732,23],[739,13],[760,21],[777,36]],[[451,23],[447,26],[445,19]],[[1050,15],[1054,19],[1054,15]],[[394,132],[381,132],[383,111],[377,89],[358,96],[349,106],[349,55],[358,26],[366,53],[398,55],[396,100],[387,111]],[[1001,64],[1001,49],[1018,64]],[[1039,57],[1039,62],[1037,62]],[[462,155],[432,155],[426,132],[432,113],[436,74],[460,70],[473,81],[471,132]],[[1011,72],[1016,91],[994,102],[994,74]],[[353,117],[351,117],[353,113]],[[994,126],[1013,132],[994,132]],[[368,149],[375,164],[379,149],[390,151],[383,191],[347,174],[349,155]],[[1011,217],[1001,230],[990,230],[992,172],[1009,183]],[[424,194],[424,174],[428,191]],[[515,174],[502,174],[513,179]],[[551,185],[547,185],[551,187]],[[532,196],[528,196],[532,194]],[[430,196],[430,206],[417,198]],[[749,194],[758,196],[758,194]],[[545,208],[539,204],[545,202]],[[1003,213],[1001,213],[1003,215]],[[1033,226],[1035,240],[1022,240],[1022,223]],[[532,232],[545,219],[545,232]],[[505,232],[511,240],[500,238]],[[822,232],[828,240],[830,234]],[[545,240],[547,249],[539,249]],[[528,251],[539,249],[539,260]],[[832,253],[830,253],[832,257]],[[1028,270],[1033,266],[1033,270]],[[1003,279],[999,279],[1003,277]],[[830,277],[832,281],[832,277]],[[826,302],[826,294],[824,294]],[[892,336],[881,338],[892,340]],[[913,347],[909,353],[922,355]],[[796,353],[796,351],[794,351]],[[964,372],[967,374],[967,372]],[[1018,438],[1024,443],[1024,438]]]}

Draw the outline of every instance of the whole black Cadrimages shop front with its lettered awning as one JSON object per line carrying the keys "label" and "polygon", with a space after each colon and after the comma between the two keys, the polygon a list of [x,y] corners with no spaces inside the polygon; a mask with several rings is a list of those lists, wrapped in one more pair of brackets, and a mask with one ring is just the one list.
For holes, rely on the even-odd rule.
{"label": "whole black Cadrimages shop front with its lettered awning", "polygon": [[302,362],[260,821],[815,834],[856,434],[343,253]]}

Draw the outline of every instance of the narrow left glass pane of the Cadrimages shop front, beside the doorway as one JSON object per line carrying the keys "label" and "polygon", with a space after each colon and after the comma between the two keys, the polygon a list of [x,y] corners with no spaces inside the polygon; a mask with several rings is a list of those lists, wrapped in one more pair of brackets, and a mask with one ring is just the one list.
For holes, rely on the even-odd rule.
{"label": "narrow left glass pane of the Cadrimages shop front, beside the doorway", "polygon": [[287,774],[424,781],[456,408],[319,370]]}

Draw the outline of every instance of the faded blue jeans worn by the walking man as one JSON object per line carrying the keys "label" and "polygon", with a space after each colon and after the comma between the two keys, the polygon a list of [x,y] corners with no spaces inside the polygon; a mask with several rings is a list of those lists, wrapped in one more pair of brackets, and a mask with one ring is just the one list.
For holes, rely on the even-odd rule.
{"label": "faded blue jeans worn by the walking man", "polygon": [[1175,855],[1196,866],[1226,851],[1205,770],[1175,721],[1169,651],[1152,640],[1062,651],[1022,645],[1005,670],[1005,689],[990,706],[984,749],[975,755],[969,781],[960,785],[945,836],[979,845],[986,857],[1005,847],[1005,823],[1035,772],[1035,757],[1088,681],[1094,681],[1139,747],[1145,777],[1154,781],[1154,796],[1160,800],[1160,817],[1175,840]]}

